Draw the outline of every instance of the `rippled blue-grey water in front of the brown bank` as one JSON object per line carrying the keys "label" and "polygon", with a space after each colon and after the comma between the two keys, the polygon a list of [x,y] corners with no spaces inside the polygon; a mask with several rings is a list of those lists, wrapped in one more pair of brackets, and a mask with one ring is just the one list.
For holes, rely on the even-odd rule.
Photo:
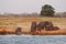
{"label": "rippled blue-grey water in front of the brown bank", "polygon": [[0,35],[0,44],[66,44],[66,35]]}

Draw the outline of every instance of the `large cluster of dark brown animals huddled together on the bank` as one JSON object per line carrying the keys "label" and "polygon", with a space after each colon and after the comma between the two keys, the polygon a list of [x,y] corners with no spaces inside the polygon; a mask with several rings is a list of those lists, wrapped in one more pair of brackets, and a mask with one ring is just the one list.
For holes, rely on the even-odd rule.
{"label": "large cluster of dark brown animals huddled together on the bank", "polygon": [[56,31],[59,30],[58,26],[54,26],[52,22],[50,21],[43,21],[43,22],[32,22],[31,24],[31,32],[35,32],[35,31],[41,31],[41,30],[45,30],[45,31]]}

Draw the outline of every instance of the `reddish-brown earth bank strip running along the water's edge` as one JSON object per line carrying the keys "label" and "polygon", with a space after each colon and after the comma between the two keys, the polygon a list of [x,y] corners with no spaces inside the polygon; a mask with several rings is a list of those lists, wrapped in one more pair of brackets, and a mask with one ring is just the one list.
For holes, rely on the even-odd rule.
{"label": "reddish-brown earth bank strip running along the water's edge", "polygon": [[[0,35],[4,34],[15,34],[15,30],[7,30],[7,31],[0,31]],[[57,31],[35,31],[34,34],[30,30],[22,30],[21,34],[30,34],[30,35],[66,35],[66,29],[65,30],[57,30]]]}

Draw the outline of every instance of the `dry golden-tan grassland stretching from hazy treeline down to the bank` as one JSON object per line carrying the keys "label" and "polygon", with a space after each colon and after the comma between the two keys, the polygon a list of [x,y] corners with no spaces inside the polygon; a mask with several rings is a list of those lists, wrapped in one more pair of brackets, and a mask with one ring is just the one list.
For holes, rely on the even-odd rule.
{"label": "dry golden-tan grassland stretching from hazy treeline down to the bank", "polygon": [[54,25],[61,30],[44,31],[40,34],[66,34],[66,18],[0,18],[0,32],[14,33],[16,28],[22,28],[22,33],[29,34],[31,30],[31,22],[36,21],[52,21]]}

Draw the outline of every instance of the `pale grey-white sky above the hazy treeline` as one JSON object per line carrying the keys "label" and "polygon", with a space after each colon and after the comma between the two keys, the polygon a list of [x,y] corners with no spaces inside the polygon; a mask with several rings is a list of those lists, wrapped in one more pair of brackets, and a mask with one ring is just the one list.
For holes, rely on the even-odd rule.
{"label": "pale grey-white sky above the hazy treeline", "polygon": [[66,11],[66,0],[0,0],[0,13],[40,13],[43,4],[51,4],[57,12]]}

